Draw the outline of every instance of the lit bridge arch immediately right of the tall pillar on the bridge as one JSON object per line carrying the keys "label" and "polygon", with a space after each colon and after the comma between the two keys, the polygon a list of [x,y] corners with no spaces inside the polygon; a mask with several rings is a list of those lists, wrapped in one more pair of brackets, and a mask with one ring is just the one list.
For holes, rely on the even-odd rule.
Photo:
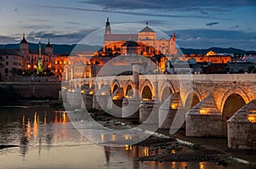
{"label": "lit bridge arch immediately right of the tall pillar on the bridge", "polygon": [[140,92],[142,99],[154,99],[154,87],[148,80],[143,82],[143,86],[141,87]]}

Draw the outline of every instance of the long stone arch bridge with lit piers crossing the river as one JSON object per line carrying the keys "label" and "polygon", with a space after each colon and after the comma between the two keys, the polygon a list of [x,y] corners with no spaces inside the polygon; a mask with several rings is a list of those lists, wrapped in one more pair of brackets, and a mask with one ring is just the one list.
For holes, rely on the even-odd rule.
{"label": "long stone arch bridge with lit piers crossing the river", "polygon": [[83,103],[87,110],[110,110],[116,116],[158,123],[160,128],[185,127],[187,136],[228,136],[230,148],[256,149],[253,74],[133,73],[73,79],[62,85],[62,99],[76,109]]}

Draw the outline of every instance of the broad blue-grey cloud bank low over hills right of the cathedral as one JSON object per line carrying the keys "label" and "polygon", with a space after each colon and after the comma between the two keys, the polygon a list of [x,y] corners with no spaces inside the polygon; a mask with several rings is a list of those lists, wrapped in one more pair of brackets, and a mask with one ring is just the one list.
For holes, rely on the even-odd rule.
{"label": "broad blue-grey cloud bank low over hills right of the cathedral", "polygon": [[[253,32],[234,30],[175,30],[177,45],[183,48],[241,48],[256,51],[256,36]],[[170,35],[171,36],[171,35]]]}

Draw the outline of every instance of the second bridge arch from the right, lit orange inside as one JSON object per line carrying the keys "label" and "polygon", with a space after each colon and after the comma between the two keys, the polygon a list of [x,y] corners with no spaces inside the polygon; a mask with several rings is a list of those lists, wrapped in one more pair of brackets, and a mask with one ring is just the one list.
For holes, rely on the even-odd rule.
{"label": "second bridge arch from the right, lit orange inside", "polygon": [[190,110],[192,107],[195,106],[195,104],[201,102],[201,100],[201,93],[199,93],[199,91],[195,87],[190,88],[187,91],[183,107],[186,110]]}

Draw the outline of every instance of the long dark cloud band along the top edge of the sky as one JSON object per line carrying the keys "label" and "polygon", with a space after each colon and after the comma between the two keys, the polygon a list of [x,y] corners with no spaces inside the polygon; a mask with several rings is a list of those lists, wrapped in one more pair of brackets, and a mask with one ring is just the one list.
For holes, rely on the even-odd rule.
{"label": "long dark cloud band along the top edge of the sky", "polygon": [[201,0],[161,0],[161,1],[148,1],[148,0],[89,0],[81,1],[81,3],[91,3],[100,5],[102,8],[121,8],[121,9],[140,9],[140,8],[160,8],[168,10],[191,10],[193,8],[205,8],[211,7],[215,9],[226,8],[226,7],[237,7],[255,5],[254,0],[207,0],[202,2]]}

